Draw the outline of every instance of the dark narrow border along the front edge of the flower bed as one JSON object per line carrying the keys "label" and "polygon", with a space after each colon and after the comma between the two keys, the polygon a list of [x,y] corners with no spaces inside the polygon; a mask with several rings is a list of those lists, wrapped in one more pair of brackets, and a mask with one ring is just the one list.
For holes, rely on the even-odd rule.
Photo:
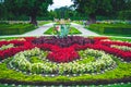
{"label": "dark narrow border along the front edge of the flower bed", "polygon": [[107,85],[107,84],[116,84],[116,83],[129,83],[131,80],[131,77],[124,77],[124,78],[116,78],[116,79],[92,79],[92,80],[69,80],[69,82],[20,82],[20,80],[13,80],[13,79],[0,79],[1,84],[15,84],[15,85],[35,85],[35,86],[51,86],[51,85],[63,85],[63,86],[73,86],[73,85]]}

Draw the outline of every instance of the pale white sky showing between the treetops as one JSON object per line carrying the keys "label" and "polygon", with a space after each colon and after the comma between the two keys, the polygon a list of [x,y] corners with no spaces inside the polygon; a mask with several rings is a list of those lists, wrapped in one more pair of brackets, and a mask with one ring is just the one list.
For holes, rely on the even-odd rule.
{"label": "pale white sky showing between the treetops", "polygon": [[71,5],[73,2],[71,0],[53,0],[53,4],[48,8],[48,10],[55,10],[56,8]]}

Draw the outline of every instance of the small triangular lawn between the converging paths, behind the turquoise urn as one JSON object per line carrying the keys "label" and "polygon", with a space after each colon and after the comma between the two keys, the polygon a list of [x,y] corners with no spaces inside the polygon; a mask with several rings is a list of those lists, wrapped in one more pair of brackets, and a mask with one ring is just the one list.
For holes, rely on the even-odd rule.
{"label": "small triangular lawn between the converging paths, behind the turquoise urn", "polygon": [[[46,35],[57,35],[57,33],[53,30],[53,27],[50,27],[44,34],[46,34]],[[78,34],[82,34],[82,33],[80,30],[78,30],[75,27],[70,28],[69,35],[78,35]]]}

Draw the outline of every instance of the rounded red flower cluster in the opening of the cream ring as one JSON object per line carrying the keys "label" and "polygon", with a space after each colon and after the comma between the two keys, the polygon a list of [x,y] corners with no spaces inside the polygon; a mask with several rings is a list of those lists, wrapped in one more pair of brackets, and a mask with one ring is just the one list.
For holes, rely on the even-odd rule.
{"label": "rounded red flower cluster in the opening of the cream ring", "polygon": [[70,62],[75,59],[79,59],[79,54],[72,48],[59,48],[58,46],[52,47],[52,52],[48,54],[48,59],[55,62]]}

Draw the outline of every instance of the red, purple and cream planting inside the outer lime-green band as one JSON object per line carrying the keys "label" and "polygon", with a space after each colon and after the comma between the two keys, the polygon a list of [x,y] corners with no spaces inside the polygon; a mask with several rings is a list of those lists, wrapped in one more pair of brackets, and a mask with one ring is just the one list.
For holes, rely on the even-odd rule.
{"label": "red, purple and cream planting inside the outer lime-green band", "polygon": [[[115,67],[116,63],[112,60],[114,57],[110,57],[110,54],[120,57],[127,62],[131,61],[130,49],[124,51],[111,46],[118,45],[130,47],[131,44],[106,41],[105,39],[108,38],[83,38],[79,36],[69,36],[68,38],[31,37],[24,38],[24,40],[0,41],[1,49],[4,49],[0,50],[0,58],[5,59],[13,55],[13,59],[10,62],[10,67],[15,67],[23,72],[38,74],[79,74],[100,72],[107,67]],[[43,57],[45,55],[44,51],[48,51],[46,57]],[[106,54],[103,51],[110,54]],[[43,61],[50,62],[31,63],[28,60],[34,55],[39,57],[39,59]],[[87,55],[95,57],[95,61],[92,61],[87,64],[79,64],[75,61],[83,60]]]}

